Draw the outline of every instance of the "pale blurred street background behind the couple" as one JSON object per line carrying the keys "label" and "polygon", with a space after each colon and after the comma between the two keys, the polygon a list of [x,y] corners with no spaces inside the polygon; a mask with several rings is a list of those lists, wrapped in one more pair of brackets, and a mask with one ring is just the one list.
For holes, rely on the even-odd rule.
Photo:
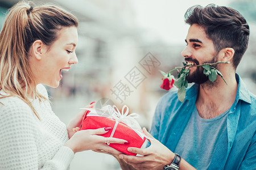
{"label": "pale blurred street background behind the couple", "polygon": [[[0,26],[7,9],[18,0],[0,1]],[[256,94],[256,1],[205,0],[52,0],[37,1],[66,8],[79,19],[79,64],[63,73],[58,88],[49,88],[52,109],[68,124],[80,108],[92,101],[96,107],[126,104],[138,113],[139,124],[150,130],[152,115],[160,97],[162,75],[181,66],[180,56],[189,25],[184,14],[193,5],[215,3],[240,11],[250,26],[249,48],[238,66],[247,87]],[[110,155],[79,152],[71,169],[120,169]]]}

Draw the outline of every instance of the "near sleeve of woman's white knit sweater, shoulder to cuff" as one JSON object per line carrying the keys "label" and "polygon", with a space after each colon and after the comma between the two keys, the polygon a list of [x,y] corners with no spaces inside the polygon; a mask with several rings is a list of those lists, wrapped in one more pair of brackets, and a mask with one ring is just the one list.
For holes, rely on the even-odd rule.
{"label": "near sleeve of woman's white knit sweater, shoulder to cuff", "polygon": [[0,104],[0,169],[67,169],[74,153],[64,146],[43,167],[38,167],[39,120],[22,100],[7,98],[4,105]]}

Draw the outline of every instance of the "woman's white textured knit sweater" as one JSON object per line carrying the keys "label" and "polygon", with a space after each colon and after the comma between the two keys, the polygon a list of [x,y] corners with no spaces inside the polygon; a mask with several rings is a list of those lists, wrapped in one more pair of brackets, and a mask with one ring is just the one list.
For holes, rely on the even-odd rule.
{"label": "woman's white textured knit sweater", "polygon": [[[37,90],[48,98],[42,84]],[[48,101],[32,101],[40,121],[18,97],[0,102],[0,169],[69,169],[74,153],[63,146],[67,128]]]}

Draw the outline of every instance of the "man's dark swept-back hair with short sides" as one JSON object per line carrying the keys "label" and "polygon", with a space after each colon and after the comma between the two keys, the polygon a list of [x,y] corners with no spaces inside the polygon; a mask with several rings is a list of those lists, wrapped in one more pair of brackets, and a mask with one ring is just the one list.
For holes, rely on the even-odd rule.
{"label": "man's dark swept-back hair with short sides", "polygon": [[192,6],[185,13],[185,22],[203,27],[217,53],[224,48],[233,48],[233,66],[237,68],[247,49],[250,34],[249,25],[237,10],[214,4]]}

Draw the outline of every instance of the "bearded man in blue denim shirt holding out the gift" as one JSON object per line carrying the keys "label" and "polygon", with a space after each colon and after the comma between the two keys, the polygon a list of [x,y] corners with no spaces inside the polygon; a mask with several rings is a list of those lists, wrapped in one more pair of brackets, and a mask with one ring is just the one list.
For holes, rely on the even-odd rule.
{"label": "bearded man in blue denim shirt holding out the gift", "polygon": [[215,5],[189,8],[185,22],[191,27],[181,56],[192,65],[230,62],[214,66],[227,84],[220,76],[212,83],[202,67],[191,67],[187,80],[195,84],[187,89],[184,103],[176,91],[164,95],[152,136],[143,129],[151,146],[128,148],[144,156],[121,154],[118,161],[123,169],[255,169],[256,97],[236,74],[249,25],[236,10]]}

